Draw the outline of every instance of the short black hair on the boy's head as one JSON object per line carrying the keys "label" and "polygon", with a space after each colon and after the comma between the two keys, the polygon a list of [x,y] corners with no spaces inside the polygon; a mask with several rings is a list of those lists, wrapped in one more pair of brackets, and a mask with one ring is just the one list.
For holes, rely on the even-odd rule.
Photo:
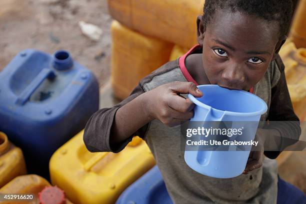
{"label": "short black hair on the boy's head", "polygon": [[240,11],[279,24],[279,37],[286,35],[292,17],[292,0],[205,0],[203,8],[204,30],[217,9]]}

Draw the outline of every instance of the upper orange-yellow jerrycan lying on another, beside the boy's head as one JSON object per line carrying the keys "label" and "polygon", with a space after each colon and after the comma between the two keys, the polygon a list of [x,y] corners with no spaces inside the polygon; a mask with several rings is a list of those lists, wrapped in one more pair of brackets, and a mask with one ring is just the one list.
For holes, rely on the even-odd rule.
{"label": "upper orange-yellow jerrycan lying on another, beside the boy's head", "polygon": [[182,47],[196,43],[196,17],[204,0],[107,0],[110,15],[141,34]]}

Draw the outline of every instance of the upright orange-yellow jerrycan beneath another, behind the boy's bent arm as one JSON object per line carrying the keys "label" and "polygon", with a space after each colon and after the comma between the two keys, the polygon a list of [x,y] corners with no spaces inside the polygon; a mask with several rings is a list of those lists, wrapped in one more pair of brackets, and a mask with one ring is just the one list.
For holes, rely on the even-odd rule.
{"label": "upright orange-yellow jerrycan beneath another, behind the boy's bent arm", "polygon": [[172,44],[111,24],[111,85],[119,99],[127,97],[138,81],[168,61]]}

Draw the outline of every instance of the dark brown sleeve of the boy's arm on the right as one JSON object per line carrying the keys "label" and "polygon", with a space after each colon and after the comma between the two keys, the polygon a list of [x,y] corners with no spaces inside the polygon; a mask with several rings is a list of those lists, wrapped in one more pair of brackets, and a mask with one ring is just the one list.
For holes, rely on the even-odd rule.
{"label": "dark brown sleeve of the boy's arm on the right", "polygon": [[[267,117],[269,121],[277,121],[271,122],[272,124],[269,128],[277,130],[277,133],[279,134],[276,137],[274,136],[276,141],[273,141],[279,144],[279,151],[264,151],[264,154],[269,158],[276,158],[281,150],[283,150],[286,146],[295,143],[301,133],[298,122],[299,119],[293,111],[287,88],[283,70],[284,67],[282,62],[279,60],[280,58],[278,58],[278,61],[276,59],[276,62],[278,62],[277,65],[280,67],[280,78],[277,84],[272,88],[270,109]],[[269,137],[267,136],[267,138]]]}

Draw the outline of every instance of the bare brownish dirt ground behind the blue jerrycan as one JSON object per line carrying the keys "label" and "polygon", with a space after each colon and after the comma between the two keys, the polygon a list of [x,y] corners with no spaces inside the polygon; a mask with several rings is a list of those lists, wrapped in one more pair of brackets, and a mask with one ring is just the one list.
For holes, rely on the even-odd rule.
{"label": "bare brownish dirt ground behind the blue jerrycan", "polygon": [[[80,20],[102,29],[98,41],[81,33]],[[66,49],[102,86],[110,75],[110,23],[106,0],[0,0],[0,70],[25,48]]]}

